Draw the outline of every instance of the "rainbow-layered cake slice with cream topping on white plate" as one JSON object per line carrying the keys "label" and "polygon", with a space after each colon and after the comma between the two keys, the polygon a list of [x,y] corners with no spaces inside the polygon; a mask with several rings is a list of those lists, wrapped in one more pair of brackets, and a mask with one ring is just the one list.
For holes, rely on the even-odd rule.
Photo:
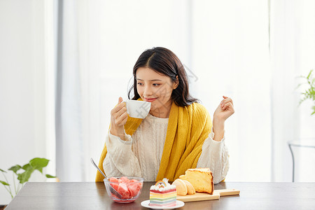
{"label": "rainbow-layered cake slice with cream topping on white plate", "polygon": [[151,207],[175,207],[176,206],[176,186],[169,184],[167,179],[158,181],[150,188]]}

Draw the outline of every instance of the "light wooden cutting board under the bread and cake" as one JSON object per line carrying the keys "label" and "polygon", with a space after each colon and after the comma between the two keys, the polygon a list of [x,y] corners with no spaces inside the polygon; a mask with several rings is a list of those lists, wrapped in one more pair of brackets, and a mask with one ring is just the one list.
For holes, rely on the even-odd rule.
{"label": "light wooden cutting board under the bread and cake", "polygon": [[194,202],[201,200],[218,200],[221,196],[239,195],[240,191],[235,189],[214,190],[214,195],[208,193],[195,193],[193,195],[177,195],[177,200],[182,202]]}

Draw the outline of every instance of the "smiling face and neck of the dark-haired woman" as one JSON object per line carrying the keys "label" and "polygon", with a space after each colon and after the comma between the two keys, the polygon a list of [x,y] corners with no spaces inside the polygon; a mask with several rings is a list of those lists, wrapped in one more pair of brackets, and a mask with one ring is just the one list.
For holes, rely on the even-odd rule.
{"label": "smiling face and neck of the dark-haired woman", "polygon": [[145,102],[151,102],[151,115],[168,118],[172,106],[172,91],[176,89],[177,83],[169,76],[148,67],[137,69],[136,77],[138,94]]}

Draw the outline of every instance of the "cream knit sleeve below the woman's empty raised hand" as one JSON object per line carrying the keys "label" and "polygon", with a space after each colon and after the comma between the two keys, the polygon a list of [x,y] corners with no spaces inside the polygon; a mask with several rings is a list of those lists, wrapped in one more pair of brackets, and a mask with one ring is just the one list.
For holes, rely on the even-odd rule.
{"label": "cream knit sleeve below the woman's empty raised hand", "polygon": [[204,140],[202,154],[197,162],[197,167],[210,168],[214,174],[214,183],[219,183],[228,174],[229,155],[228,148],[225,146],[225,136],[221,141],[214,141],[214,132],[211,129],[209,137]]}

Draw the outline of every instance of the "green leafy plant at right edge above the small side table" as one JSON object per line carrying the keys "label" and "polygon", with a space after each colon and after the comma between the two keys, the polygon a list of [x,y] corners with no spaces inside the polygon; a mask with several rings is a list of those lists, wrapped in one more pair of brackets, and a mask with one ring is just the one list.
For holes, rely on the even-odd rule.
{"label": "green leafy plant at right edge above the small side table", "polygon": [[[304,80],[306,80],[306,82],[300,83],[300,85],[304,85],[304,84],[308,85],[307,90],[304,90],[304,92],[301,93],[303,97],[300,100],[300,104],[304,102],[306,99],[313,100],[314,106],[312,107],[313,113],[311,113],[311,115],[314,115],[315,113],[315,78],[312,73],[313,73],[313,70],[309,71],[309,75],[307,76],[300,76],[300,78],[303,78]],[[298,85],[298,87],[300,87],[300,85]]]}

